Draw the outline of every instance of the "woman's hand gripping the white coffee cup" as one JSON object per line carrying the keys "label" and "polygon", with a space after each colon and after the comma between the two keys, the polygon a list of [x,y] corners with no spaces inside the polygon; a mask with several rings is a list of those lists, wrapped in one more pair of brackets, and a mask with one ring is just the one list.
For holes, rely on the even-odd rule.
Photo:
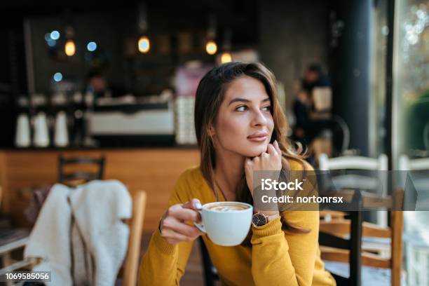
{"label": "woman's hand gripping the white coffee cup", "polygon": [[159,225],[161,236],[168,243],[176,245],[182,241],[193,241],[203,233],[195,226],[186,222],[199,222],[201,209],[200,200],[194,198],[184,204],[172,205],[163,215]]}

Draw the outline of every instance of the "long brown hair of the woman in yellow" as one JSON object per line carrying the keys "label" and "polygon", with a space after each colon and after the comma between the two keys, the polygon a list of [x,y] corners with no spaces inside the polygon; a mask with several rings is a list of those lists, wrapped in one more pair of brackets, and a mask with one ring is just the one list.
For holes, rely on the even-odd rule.
{"label": "long brown hair of the woman in yellow", "polygon": [[[306,170],[301,145],[297,144],[296,148],[287,139],[287,120],[278,103],[276,81],[273,73],[261,63],[228,62],[219,67],[214,67],[201,79],[196,91],[194,112],[196,138],[201,151],[200,171],[207,184],[214,191],[216,198],[218,198],[218,194],[215,191],[213,179],[214,168],[216,168],[216,156],[209,130],[210,126],[214,125],[217,120],[219,107],[224,100],[229,84],[242,76],[250,76],[261,81],[264,84],[268,97],[270,97],[271,114],[274,121],[273,135],[270,142],[273,143],[275,140],[278,142],[282,151],[283,170],[290,170],[288,160],[298,161],[301,163],[303,170]],[[252,194],[247,186],[244,174],[237,186],[236,195],[238,201],[253,204]],[[294,233],[308,232],[306,229],[290,226],[283,218],[282,229]]]}

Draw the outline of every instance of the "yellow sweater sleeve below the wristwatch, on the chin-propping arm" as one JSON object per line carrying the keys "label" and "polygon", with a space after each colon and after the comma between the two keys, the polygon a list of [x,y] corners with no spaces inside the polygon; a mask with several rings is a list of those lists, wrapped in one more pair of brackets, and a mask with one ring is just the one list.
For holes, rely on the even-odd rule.
{"label": "yellow sweater sleeve below the wristwatch, on the chin-propping arm", "polygon": [[252,276],[255,285],[311,285],[318,247],[319,212],[282,212],[291,226],[308,233],[282,231],[280,217],[252,226]]}

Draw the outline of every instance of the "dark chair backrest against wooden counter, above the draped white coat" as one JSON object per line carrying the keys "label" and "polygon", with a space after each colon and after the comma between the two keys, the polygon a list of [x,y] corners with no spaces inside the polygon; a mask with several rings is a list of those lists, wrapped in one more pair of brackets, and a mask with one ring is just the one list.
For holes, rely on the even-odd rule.
{"label": "dark chair backrest against wooden counter, above the draped white coat", "polygon": [[[72,157],[64,158],[62,155],[58,158],[58,182],[64,183],[67,181],[83,180],[84,182],[91,181],[93,179],[103,179],[104,175],[104,156],[100,158],[91,157]],[[67,166],[80,165],[83,168],[84,165],[94,165],[97,171],[90,172],[87,170],[78,170],[74,172],[66,172]]]}

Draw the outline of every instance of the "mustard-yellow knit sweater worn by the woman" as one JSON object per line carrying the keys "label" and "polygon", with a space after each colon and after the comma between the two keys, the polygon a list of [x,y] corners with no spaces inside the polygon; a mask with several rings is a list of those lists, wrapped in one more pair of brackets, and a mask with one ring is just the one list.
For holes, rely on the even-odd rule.
{"label": "mustard-yellow knit sweater worn by the woman", "polygon": [[[290,161],[290,165],[292,170],[301,170],[296,161]],[[168,205],[192,198],[199,198],[202,204],[216,201],[198,166],[179,177]],[[219,193],[219,201],[224,200]],[[336,285],[320,259],[319,212],[285,211],[281,215],[288,224],[311,231],[282,231],[278,218],[264,226],[252,226],[252,247],[215,245],[203,236],[223,285]],[[179,285],[192,245],[170,245],[156,230],[139,267],[139,285]]]}

